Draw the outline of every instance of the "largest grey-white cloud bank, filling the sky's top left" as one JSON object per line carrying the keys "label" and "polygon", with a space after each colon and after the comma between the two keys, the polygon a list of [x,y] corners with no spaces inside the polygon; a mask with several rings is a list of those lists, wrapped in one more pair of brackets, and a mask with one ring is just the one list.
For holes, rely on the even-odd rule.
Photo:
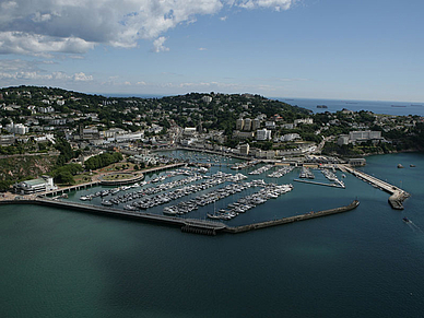
{"label": "largest grey-white cloud bank, filling the sky's top left", "polygon": [[[14,0],[0,4],[0,54],[82,54],[97,44],[137,47],[224,5],[286,10],[295,0]],[[225,21],[226,16],[220,17]],[[161,46],[162,40],[162,46]]]}

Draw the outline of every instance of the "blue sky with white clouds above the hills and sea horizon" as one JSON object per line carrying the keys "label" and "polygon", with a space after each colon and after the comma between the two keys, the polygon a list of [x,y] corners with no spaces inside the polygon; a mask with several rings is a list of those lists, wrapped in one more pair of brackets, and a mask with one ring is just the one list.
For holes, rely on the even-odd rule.
{"label": "blue sky with white clouds above the hills and sea horizon", "polygon": [[424,102],[422,0],[0,0],[0,86]]}

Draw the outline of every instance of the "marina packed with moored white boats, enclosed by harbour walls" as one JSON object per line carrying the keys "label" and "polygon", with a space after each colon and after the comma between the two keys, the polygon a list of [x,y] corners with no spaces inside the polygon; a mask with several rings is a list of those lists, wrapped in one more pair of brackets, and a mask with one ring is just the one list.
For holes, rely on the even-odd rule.
{"label": "marina packed with moored white boats, enclosed by harbour walls", "polygon": [[[172,155],[184,158],[187,154],[179,151]],[[338,188],[345,189],[344,179],[342,180],[345,178],[344,173],[389,192],[389,202],[393,209],[403,208],[401,203],[407,198],[407,192],[400,188],[346,165],[320,168],[281,166],[269,161],[240,162],[227,156],[192,152],[188,153],[188,158],[189,161],[181,163],[143,170],[142,174],[131,175],[127,180],[103,182],[99,178],[39,196],[3,200],[2,203],[40,204],[166,224],[177,226],[186,233],[216,235],[221,232],[242,233],[350,211],[353,203],[344,205],[346,201],[340,201],[342,208],[335,210],[326,209],[325,201],[319,203],[320,199],[310,201],[309,207],[305,207],[307,201],[302,201],[302,193],[310,191],[310,186],[329,189],[323,191],[332,191],[331,188],[335,191],[340,191]],[[220,162],[224,165],[220,165]],[[243,170],[233,168],[244,163],[247,166]],[[294,187],[291,181],[298,186]],[[340,197],[334,192],[333,198],[335,196]],[[355,198],[356,193],[350,196]],[[296,210],[282,209],[285,202],[293,200],[303,204]]]}

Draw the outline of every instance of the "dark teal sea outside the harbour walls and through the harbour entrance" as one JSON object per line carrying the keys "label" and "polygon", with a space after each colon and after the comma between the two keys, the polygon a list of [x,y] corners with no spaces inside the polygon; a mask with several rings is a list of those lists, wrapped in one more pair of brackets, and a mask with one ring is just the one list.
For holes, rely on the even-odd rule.
{"label": "dark teal sea outside the harbour walls and through the harbour entrance", "polygon": [[292,192],[231,222],[333,208],[355,197],[361,205],[215,237],[51,208],[0,207],[0,315],[422,317],[424,155],[367,162],[364,170],[412,193],[404,211],[351,175],[343,190],[295,184],[297,172],[278,180],[292,181]]}

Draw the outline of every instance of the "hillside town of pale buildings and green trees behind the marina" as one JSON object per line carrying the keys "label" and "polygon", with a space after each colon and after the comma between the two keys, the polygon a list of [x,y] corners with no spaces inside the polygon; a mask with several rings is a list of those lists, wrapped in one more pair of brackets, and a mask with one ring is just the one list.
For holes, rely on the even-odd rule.
{"label": "hillside town of pale buildings and green trees behind the marina", "polygon": [[424,141],[420,116],[314,114],[259,95],[213,92],[138,98],[5,87],[0,119],[2,190],[42,175],[59,185],[84,182],[110,164],[142,170],[168,164],[157,151],[176,148],[246,160],[361,165],[366,154],[417,150]]}

